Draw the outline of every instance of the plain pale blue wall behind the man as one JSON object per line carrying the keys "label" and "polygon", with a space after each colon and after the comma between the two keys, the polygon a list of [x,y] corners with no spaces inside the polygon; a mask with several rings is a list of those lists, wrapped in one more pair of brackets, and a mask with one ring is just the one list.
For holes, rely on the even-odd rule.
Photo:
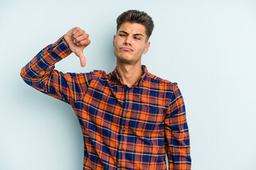
{"label": "plain pale blue wall behind the man", "polygon": [[1,170],[82,169],[82,132],[72,108],[26,85],[20,71],[79,26],[90,34],[87,66],[72,54],[55,68],[112,72],[115,20],[129,9],[154,20],[142,63],[181,89],[192,169],[256,169],[255,0],[9,0],[0,2]]}

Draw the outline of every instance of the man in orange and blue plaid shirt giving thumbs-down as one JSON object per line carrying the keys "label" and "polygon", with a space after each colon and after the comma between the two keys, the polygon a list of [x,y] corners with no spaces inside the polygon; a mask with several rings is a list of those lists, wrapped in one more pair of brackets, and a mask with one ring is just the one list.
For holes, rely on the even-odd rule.
{"label": "man in orange and blue plaid shirt giving thumbs-down", "polygon": [[89,35],[73,28],[21,70],[35,89],[73,107],[82,128],[84,169],[191,169],[188,126],[176,83],[147,72],[142,54],[154,28],[150,16],[130,10],[117,18],[117,67],[63,74],[54,64],[74,52],[85,67]]}

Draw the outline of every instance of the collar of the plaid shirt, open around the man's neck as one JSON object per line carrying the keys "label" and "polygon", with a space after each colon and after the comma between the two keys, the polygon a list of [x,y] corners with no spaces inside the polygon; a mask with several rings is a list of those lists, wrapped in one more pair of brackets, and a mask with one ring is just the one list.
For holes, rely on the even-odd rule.
{"label": "collar of the plaid shirt, open around the man's neck", "polygon": [[[145,65],[142,65],[142,70],[143,70],[143,73],[142,73],[142,77],[140,77],[133,85],[132,87],[135,87],[135,86],[142,86],[144,80],[146,79],[146,74],[148,74],[148,71],[146,69],[146,66]],[[117,73],[117,67],[114,68],[114,71],[112,72],[112,78],[113,79],[116,79],[119,84],[122,84],[123,86],[127,86],[126,84],[124,84],[124,81],[122,80],[121,77],[119,77],[118,73]]]}

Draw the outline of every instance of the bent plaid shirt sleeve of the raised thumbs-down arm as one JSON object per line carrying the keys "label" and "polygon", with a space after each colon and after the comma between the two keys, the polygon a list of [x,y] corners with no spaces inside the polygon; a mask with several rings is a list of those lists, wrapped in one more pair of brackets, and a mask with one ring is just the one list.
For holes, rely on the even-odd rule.
{"label": "bent plaid shirt sleeve of the raised thumbs-down arm", "polygon": [[33,88],[74,104],[85,92],[92,78],[92,73],[74,74],[58,72],[55,63],[70,55],[71,51],[63,42],[63,37],[46,46],[21,69],[21,77]]}

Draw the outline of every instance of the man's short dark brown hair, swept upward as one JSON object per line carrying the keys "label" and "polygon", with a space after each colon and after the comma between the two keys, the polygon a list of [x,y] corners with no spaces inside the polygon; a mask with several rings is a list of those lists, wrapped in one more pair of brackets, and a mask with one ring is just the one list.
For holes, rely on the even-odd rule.
{"label": "man's short dark brown hair, swept upward", "polygon": [[149,39],[154,28],[154,22],[152,18],[143,11],[129,10],[119,15],[117,17],[117,31],[124,22],[140,23],[145,26],[147,39]]}

